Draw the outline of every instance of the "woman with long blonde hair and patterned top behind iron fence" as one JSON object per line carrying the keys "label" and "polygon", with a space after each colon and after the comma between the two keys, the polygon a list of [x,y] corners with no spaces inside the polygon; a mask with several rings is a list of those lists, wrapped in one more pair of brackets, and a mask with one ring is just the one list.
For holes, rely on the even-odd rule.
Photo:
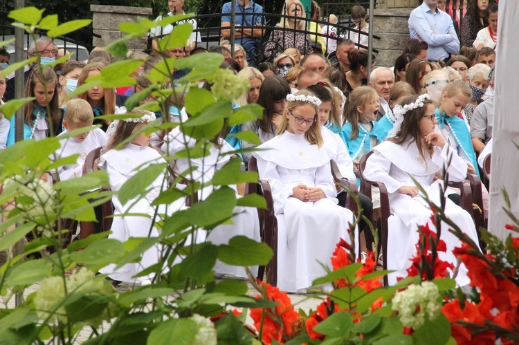
{"label": "woman with long blonde hair and patterned top behind iron fence", "polygon": [[[310,35],[306,31],[307,21],[304,8],[299,0],[286,0],[283,6],[282,18],[272,30],[265,46],[267,57],[276,57],[286,48],[296,48],[302,55],[313,53]],[[284,28],[299,30],[298,32]]]}

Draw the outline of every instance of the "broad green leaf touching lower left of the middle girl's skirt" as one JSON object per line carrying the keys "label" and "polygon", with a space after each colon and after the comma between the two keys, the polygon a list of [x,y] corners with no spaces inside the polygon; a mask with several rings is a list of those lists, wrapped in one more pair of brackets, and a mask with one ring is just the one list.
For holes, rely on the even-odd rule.
{"label": "broad green leaf touching lower left of the middle girl's skirt", "polygon": [[228,245],[219,245],[218,259],[228,265],[266,265],[273,255],[266,243],[258,243],[246,236],[235,236]]}

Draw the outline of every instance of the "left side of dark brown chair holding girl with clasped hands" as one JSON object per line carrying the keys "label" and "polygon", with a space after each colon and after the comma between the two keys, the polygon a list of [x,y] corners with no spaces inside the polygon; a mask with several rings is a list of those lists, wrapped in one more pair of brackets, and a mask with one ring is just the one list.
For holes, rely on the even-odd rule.
{"label": "left side of dark brown chair holding girl with clasped hands", "polygon": [[[257,172],[257,160],[254,156],[248,160],[248,171]],[[260,189],[258,189],[258,186]],[[257,183],[247,183],[245,194],[263,195],[266,201],[267,209],[258,209],[257,213],[260,218],[260,229],[262,241],[264,241],[274,254],[271,261],[266,266],[260,266],[257,270],[257,279],[263,281],[265,270],[266,279],[271,286],[277,285],[277,219],[274,214],[274,201],[272,198],[271,186],[267,181],[258,179]]]}

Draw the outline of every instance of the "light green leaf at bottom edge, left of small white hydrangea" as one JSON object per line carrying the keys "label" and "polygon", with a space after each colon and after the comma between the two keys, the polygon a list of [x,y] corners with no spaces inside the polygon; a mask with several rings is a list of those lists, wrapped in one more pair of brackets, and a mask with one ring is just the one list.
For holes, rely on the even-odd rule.
{"label": "light green leaf at bottom edge, left of small white hydrangea", "polygon": [[197,335],[197,324],[190,319],[169,319],[149,333],[148,345],[190,345]]}

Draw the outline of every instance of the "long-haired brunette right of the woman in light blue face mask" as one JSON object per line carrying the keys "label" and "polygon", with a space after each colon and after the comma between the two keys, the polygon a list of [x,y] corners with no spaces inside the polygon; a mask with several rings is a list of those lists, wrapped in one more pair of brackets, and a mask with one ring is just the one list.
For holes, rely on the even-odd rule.
{"label": "long-haired brunette right of the woman in light blue face mask", "polygon": [[[104,64],[100,62],[86,64],[78,78],[78,87],[85,84],[87,78],[100,75],[103,68]],[[101,129],[106,132],[111,120],[96,120],[95,117],[116,112],[116,91],[113,88],[93,86],[89,91],[80,93],[78,98],[89,102],[94,115],[93,124],[101,124]]]}

